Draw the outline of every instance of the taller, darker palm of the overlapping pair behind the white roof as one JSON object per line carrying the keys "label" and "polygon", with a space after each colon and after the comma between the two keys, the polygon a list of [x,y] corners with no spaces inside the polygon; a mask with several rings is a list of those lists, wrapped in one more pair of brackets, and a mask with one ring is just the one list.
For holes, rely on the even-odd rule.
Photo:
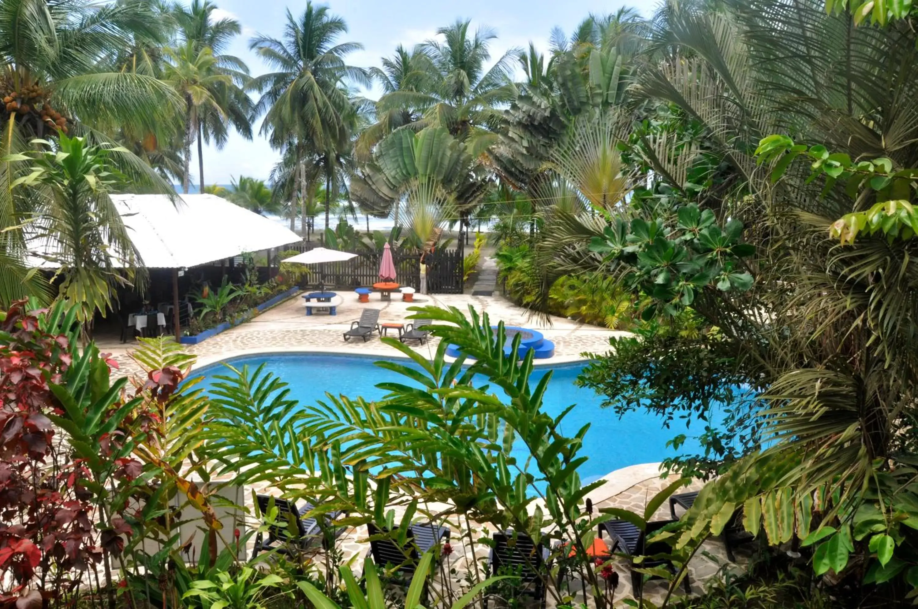
{"label": "taller, darker palm of the overlapping pair behind the white roof", "polygon": [[238,21],[229,17],[215,20],[217,6],[208,0],[192,0],[187,8],[175,6],[174,19],[180,38],[190,42],[198,52],[206,48],[214,55],[217,72],[226,74],[231,83],[215,83],[214,99],[222,112],[206,105],[200,108],[197,120],[197,163],[201,192],[204,189],[204,143],[213,141],[222,149],[229,139],[229,127],[243,138],[252,139],[252,99],[245,93],[249,68],[238,57],[223,53],[229,42],[241,33]]}

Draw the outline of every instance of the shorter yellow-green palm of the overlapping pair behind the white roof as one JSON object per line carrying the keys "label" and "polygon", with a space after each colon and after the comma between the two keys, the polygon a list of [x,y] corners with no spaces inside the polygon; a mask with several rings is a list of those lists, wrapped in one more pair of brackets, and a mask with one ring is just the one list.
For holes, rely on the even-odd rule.
{"label": "shorter yellow-green palm of the overlapping pair behind the white roof", "polygon": [[[196,50],[194,42],[188,40],[180,47],[166,52],[170,62],[164,70],[164,81],[173,86],[185,102],[182,192],[187,194],[191,179],[191,144],[198,134],[198,121],[207,112],[226,116],[218,98],[233,83],[228,74],[218,70],[217,59],[210,47]],[[201,180],[203,190],[203,177]]]}

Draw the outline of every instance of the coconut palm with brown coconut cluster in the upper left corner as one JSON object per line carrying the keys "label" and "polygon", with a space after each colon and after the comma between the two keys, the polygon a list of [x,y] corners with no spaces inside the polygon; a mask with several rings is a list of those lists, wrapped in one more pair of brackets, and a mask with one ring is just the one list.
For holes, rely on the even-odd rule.
{"label": "coconut palm with brown coconut cluster in the upper left corner", "polygon": [[[0,122],[2,155],[28,149],[35,137],[56,138],[76,129],[99,139],[118,126],[153,130],[169,122],[179,99],[149,73],[122,70],[112,58],[138,40],[162,32],[146,3],[100,6],[89,0],[0,3]],[[137,156],[115,153],[111,161],[131,180],[160,192],[171,190]],[[41,295],[39,275],[27,274],[25,235],[19,228],[32,210],[48,208],[44,191],[13,192],[25,167],[0,163],[0,304],[27,293]],[[117,223],[117,221],[116,221]],[[22,280],[26,280],[23,282]]]}

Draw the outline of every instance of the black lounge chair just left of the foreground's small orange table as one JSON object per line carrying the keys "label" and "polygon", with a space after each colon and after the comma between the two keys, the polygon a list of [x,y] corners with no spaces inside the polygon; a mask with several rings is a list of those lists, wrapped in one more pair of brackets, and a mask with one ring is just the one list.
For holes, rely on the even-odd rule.
{"label": "black lounge chair just left of the foreground's small orange table", "polygon": [[[502,574],[503,568],[506,575],[517,575],[523,586],[522,592],[532,596],[533,601],[545,606],[545,570],[548,565],[550,552],[542,544],[536,545],[525,533],[503,531],[495,533],[494,547],[487,557],[487,572],[489,577]],[[485,597],[485,606],[490,599]]]}

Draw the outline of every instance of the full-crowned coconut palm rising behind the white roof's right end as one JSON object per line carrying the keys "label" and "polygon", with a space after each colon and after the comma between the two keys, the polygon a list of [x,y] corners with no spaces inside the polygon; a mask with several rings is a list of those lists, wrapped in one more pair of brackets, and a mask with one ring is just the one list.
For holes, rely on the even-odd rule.
{"label": "full-crowned coconut palm rising behind the white roof's right end", "polygon": [[[344,58],[363,47],[357,42],[336,43],[347,24],[330,14],[328,6],[310,1],[300,17],[289,11],[286,17],[283,39],[257,36],[250,43],[274,68],[252,79],[252,89],[262,93],[255,110],[264,114],[261,132],[271,144],[293,148],[295,165],[310,155],[319,159],[330,191],[334,168],[350,148],[352,134],[353,105],[343,83],[370,83],[364,69],[348,65]],[[295,191],[301,193],[300,173],[294,175]],[[329,206],[326,195],[326,224]]]}

